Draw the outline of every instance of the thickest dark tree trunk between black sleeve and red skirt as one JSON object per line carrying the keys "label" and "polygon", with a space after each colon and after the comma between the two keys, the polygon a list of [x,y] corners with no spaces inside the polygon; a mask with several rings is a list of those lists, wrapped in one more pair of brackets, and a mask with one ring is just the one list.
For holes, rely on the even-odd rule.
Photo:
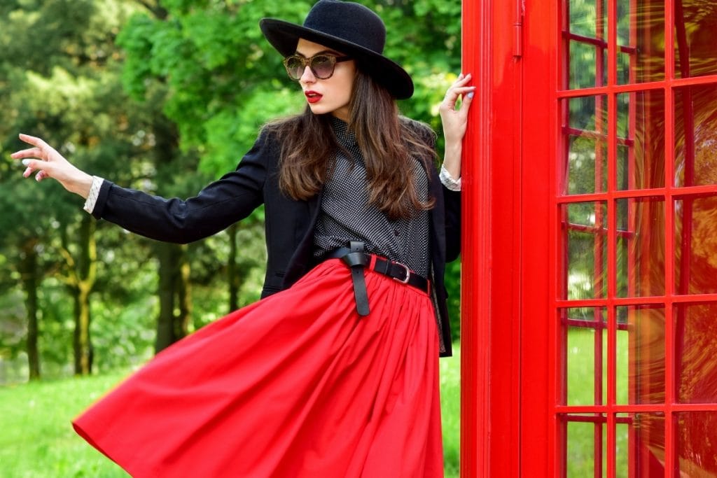
{"label": "thickest dark tree trunk between black sleeve and red skirt", "polygon": [[156,353],[186,336],[189,330],[190,269],[185,252],[186,246],[166,242],[156,244],[159,260],[159,317],[154,345]]}

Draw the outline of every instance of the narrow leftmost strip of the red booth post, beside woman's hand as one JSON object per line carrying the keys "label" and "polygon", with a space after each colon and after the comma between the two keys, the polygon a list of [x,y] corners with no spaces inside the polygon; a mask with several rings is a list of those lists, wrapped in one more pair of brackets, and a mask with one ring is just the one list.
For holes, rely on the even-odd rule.
{"label": "narrow leftmost strip of the red booth post, beside woman's hand", "polygon": [[463,144],[460,476],[488,477],[490,264],[490,45],[485,6],[462,3],[462,70],[475,91]]}

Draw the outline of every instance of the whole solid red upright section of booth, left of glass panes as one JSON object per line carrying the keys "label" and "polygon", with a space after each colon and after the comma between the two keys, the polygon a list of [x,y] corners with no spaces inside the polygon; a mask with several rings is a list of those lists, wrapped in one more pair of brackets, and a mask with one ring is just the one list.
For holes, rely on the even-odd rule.
{"label": "whole solid red upright section of booth, left of glass panes", "polygon": [[463,168],[463,478],[554,476],[558,15],[546,3],[525,15],[523,0],[463,0],[463,71],[478,86]]}

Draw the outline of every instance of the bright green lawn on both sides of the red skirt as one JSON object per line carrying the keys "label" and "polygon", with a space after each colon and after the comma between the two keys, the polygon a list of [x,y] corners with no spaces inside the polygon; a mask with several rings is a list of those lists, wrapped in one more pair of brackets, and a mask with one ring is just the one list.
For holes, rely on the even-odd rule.
{"label": "bright green lawn on both sides of the red skirt", "polygon": [[[455,353],[440,360],[446,478],[458,477],[460,348]],[[128,474],[75,434],[70,424],[127,374],[0,387],[0,477],[127,478]]]}

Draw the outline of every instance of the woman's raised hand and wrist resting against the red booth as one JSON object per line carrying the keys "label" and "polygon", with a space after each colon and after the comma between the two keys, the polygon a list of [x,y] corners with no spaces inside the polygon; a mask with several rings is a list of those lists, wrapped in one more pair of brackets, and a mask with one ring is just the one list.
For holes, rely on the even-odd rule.
{"label": "woman's raised hand and wrist resting against the red booth", "polygon": [[[470,73],[458,75],[458,79],[450,85],[438,109],[446,140],[443,165],[455,179],[460,178],[462,140],[468,125],[468,110],[475,92],[475,86],[466,86],[470,79]],[[456,108],[459,97],[462,101]]]}

